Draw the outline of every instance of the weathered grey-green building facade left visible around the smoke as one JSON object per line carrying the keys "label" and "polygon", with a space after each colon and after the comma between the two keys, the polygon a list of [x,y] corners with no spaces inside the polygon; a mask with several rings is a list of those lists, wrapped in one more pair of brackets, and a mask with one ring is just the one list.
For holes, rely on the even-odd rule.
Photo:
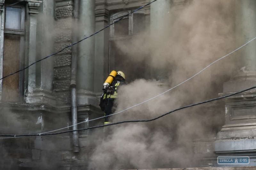
{"label": "weathered grey-green building facade left visible around the smoke", "polygon": [[[18,1],[1,0],[1,7]],[[112,24],[131,11],[148,4],[149,0],[80,0],[79,19],[74,19],[74,1],[22,1],[1,10],[0,75],[17,70],[60,51],[72,44],[74,37],[81,40]],[[76,44],[77,52],[77,122],[78,129],[103,120],[85,122],[104,115],[99,97],[102,84],[111,70],[122,70],[130,81],[136,78],[162,80],[159,70],[147,61],[132,63],[116,48],[140,34],[161,31],[158,23],[172,16],[175,7],[182,9],[190,1],[158,0],[132,13],[100,33]],[[238,44],[256,35],[256,3],[253,0],[236,2],[236,38]],[[250,10],[248,10],[250,9]],[[77,29],[74,29],[76,27]],[[220,96],[255,85],[255,44],[247,45],[240,53],[242,72],[233,81],[224,82]],[[1,134],[44,133],[72,125],[70,106],[70,77],[72,48],[38,62],[0,81]],[[134,67],[125,67],[129,63]],[[136,73],[140,73],[139,75]],[[135,75],[135,76],[134,76]],[[256,104],[255,91],[244,92],[224,100],[225,125],[216,139],[195,142],[195,152],[206,154],[204,160],[218,166],[217,156],[223,154],[248,155],[249,166],[256,166]],[[78,133],[79,152],[73,152],[72,134],[57,136],[0,139],[5,155],[3,166],[12,169],[86,169],[92,144],[90,131]],[[200,148],[200,149],[199,149]],[[207,156],[208,152],[211,156]],[[52,155],[51,158],[49,155]],[[214,155],[214,156],[212,156]],[[54,158],[54,159],[53,159]]]}

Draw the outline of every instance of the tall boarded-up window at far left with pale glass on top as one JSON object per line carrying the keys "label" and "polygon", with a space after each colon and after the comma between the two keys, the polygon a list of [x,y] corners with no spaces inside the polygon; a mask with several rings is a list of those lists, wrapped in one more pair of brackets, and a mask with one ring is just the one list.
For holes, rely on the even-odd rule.
{"label": "tall boarded-up window at far left with pale glass on top", "polygon": [[[23,44],[21,42],[24,35],[23,9],[22,6],[5,9],[3,77],[20,70]],[[3,79],[2,100],[15,102],[20,100],[20,73]]]}

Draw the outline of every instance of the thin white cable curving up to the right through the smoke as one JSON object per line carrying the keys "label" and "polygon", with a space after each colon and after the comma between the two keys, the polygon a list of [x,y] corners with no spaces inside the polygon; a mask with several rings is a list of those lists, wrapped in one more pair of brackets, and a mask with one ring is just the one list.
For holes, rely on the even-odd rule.
{"label": "thin white cable curving up to the right through the smoke", "polygon": [[[256,37],[253,38],[251,41],[253,41],[253,40],[255,40],[255,39],[256,39]],[[225,56],[219,58],[218,60],[214,61],[213,63],[209,64],[207,67],[205,67],[203,70],[201,70],[201,71],[199,71],[198,73],[196,73],[196,74],[195,74],[194,76],[192,76],[191,78],[194,78],[195,76],[197,76],[198,74],[200,74],[202,71],[204,71],[205,69],[207,69],[208,67],[210,67],[212,64],[214,64],[214,63],[218,62],[219,60],[225,58],[226,56],[228,56],[228,55],[230,55],[230,54],[236,52],[237,50],[239,50],[240,48],[244,47],[245,45],[247,45],[247,44],[250,43],[251,41],[248,41],[247,43],[245,43],[245,44],[242,45],[241,47],[237,48],[236,50],[232,51],[231,53],[229,53],[229,54],[227,54],[227,55],[225,55]],[[131,108],[133,108],[133,107],[136,107],[136,106],[139,106],[139,105],[141,105],[141,104],[143,104],[143,103],[146,103],[146,102],[148,102],[149,100],[155,99],[155,98],[157,98],[157,97],[163,95],[164,93],[169,92],[170,90],[172,90],[172,89],[178,87],[179,85],[182,85],[183,83],[187,82],[187,81],[190,80],[191,78],[188,78],[187,80],[183,81],[182,83],[180,83],[180,84],[178,84],[178,85],[172,87],[171,89],[169,89],[169,90],[167,90],[167,91],[165,91],[165,92],[163,92],[163,93],[161,93],[161,94],[159,94],[159,95],[157,95],[157,96],[155,96],[155,97],[153,97],[153,98],[151,98],[151,99],[148,99],[148,100],[143,101],[143,102],[141,102],[141,103],[139,103],[139,104],[137,104],[137,105],[134,105],[134,106],[132,106],[132,107],[129,107],[129,108],[127,108],[127,109],[124,109],[124,110],[122,110],[122,111],[120,111],[120,112],[117,112],[117,113],[114,113],[114,114],[111,114],[111,115],[116,115],[116,114],[122,113],[122,112],[124,112],[124,111],[126,111],[126,110],[128,110],[128,109],[131,109]],[[111,115],[107,115],[107,116],[111,116]],[[88,120],[88,121],[86,120],[86,121],[84,121],[84,122],[94,121],[94,120],[101,119],[101,118],[104,118],[104,117],[107,117],[107,116],[102,116],[102,117],[99,117],[99,118],[96,118],[96,119],[92,119],[92,120]],[[84,123],[84,122],[80,122],[80,123]],[[68,127],[65,127],[65,128],[61,128],[61,129],[66,129],[66,128],[69,128],[69,127],[78,125],[78,124],[80,124],[80,123],[77,123],[77,124],[74,124],[74,125],[71,125],[71,126],[68,126]],[[50,133],[50,132],[58,131],[58,130],[61,130],[61,129],[52,130],[52,131],[44,132],[44,133]],[[39,133],[38,133],[38,134],[39,134]],[[40,134],[43,134],[43,133],[40,133]],[[3,139],[3,138],[4,138],[4,137],[2,137],[2,138],[0,138],[0,139]],[[7,137],[7,138],[14,138],[14,137]]]}

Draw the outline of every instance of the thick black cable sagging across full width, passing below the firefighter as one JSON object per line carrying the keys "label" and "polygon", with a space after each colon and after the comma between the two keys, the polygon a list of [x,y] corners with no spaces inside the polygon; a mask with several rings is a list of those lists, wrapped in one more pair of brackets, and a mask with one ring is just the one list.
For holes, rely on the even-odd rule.
{"label": "thick black cable sagging across full width, passing below the firefighter", "polygon": [[84,128],[84,129],[67,130],[67,131],[58,132],[58,133],[42,133],[42,134],[41,134],[41,133],[37,133],[37,134],[0,135],[0,136],[25,137],[25,136],[58,135],[58,134],[62,134],[62,133],[68,133],[68,132],[74,132],[74,131],[82,131],[82,130],[88,130],[88,129],[95,129],[95,128],[100,128],[100,127],[105,127],[105,126],[111,126],[111,125],[116,125],[116,124],[121,124],[121,123],[129,123],[129,122],[150,122],[150,121],[154,121],[154,120],[156,120],[156,119],[159,119],[159,118],[161,118],[161,117],[164,117],[164,116],[166,116],[166,115],[169,115],[170,113],[173,113],[173,112],[175,112],[175,111],[178,111],[178,110],[181,110],[181,109],[184,109],[184,108],[188,108],[188,107],[192,107],[192,106],[196,106],[196,105],[201,105],[201,104],[208,103],[208,102],[211,102],[211,101],[214,101],[214,100],[224,99],[224,98],[227,98],[227,97],[233,96],[233,95],[235,95],[235,94],[242,93],[242,92],[245,92],[245,91],[254,89],[254,88],[256,88],[256,86],[253,86],[253,87],[251,87],[251,88],[248,88],[248,89],[245,89],[245,90],[242,90],[242,91],[239,91],[239,92],[235,92],[235,93],[232,93],[232,94],[228,94],[228,95],[226,95],[226,96],[222,96],[222,97],[218,97],[218,98],[214,98],[214,99],[202,101],[202,102],[200,102],[200,103],[195,103],[195,104],[188,105],[188,106],[183,106],[183,107],[177,108],[177,109],[172,110],[172,111],[170,111],[170,112],[167,112],[167,113],[165,113],[165,114],[163,114],[163,115],[160,115],[160,116],[158,116],[158,117],[155,117],[155,118],[153,118],[153,119],[148,119],[148,120],[133,120],[133,121],[116,122],[116,123],[110,123],[110,124],[100,125],[100,126],[92,126],[92,127]]}

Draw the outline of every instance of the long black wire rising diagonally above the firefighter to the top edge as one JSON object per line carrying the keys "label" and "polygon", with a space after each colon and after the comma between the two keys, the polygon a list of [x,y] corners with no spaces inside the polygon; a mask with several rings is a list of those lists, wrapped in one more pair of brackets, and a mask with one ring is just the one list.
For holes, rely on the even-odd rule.
{"label": "long black wire rising diagonally above the firefighter to the top edge", "polygon": [[[24,1],[24,0],[23,0],[23,1]],[[88,36],[88,37],[85,37],[84,39],[82,39],[82,40],[80,40],[80,41],[77,41],[77,42],[75,42],[75,43],[73,43],[73,44],[70,44],[69,46],[67,46],[67,47],[65,47],[65,48],[62,48],[60,51],[58,51],[58,52],[56,52],[56,53],[53,53],[53,54],[51,54],[51,55],[48,55],[47,57],[44,57],[43,59],[38,60],[38,61],[36,61],[35,63],[32,63],[32,64],[28,65],[28,66],[25,67],[24,69],[21,69],[21,70],[19,70],[19,71],[16,71],[16,72],[14,72],[14,73],[11,73],[11,74],[9,74],[9,75],[7,75],[7,76],[4,76],[3,78],[0,78],[0,80],[2,80],[2,79],[4,79],[4,78],[7,78],[7,77],[9,77],[9,76],[11,76],[11,75],[13,75],[13,74],[15,74],[15,73],[18,73],[18,72],[20,72],[20,71],[22,71],[22,70],[25,70],[25,69],[27,69],[28,67],[30,67],[30,66],[32,66],[32,65],[34,65],[34,64],[36,64],[36,63],[38,63],[38,62],[40,62],[40,61],[42,61],[42,60],[44,60],[44,59],[46,59],[46,58],[48,58],[48,57],[50,57],[50,56],[52,56],[52,55],[55,55],[55,54],[60,53],[61,51],[63,51],[64,49],[66,49],[66,48],[68,48],[68,47],[71,47],[71,46],[73,46],[73,45],[75,45],[75,44],[77,44],[77,43],[79,43],[79,42],[81,42],[81,41],[84,41],[85,39],[87,39],[87,38],[89,38],[89,37],[92,37],[93,35],[95,35],[95,34],[101,32],[101,31],[103,31],[104,29],[108,28],[109,26],[111,26],[111,25],[115,24],[116,22],[120,21],[120,20],[123,19],[124,17],[127,17],[128,15],[132,14],[133,12],[136,12],[136,11],[138,11],[138,10],[144,8],[145,6],[148,6],[148,5],[150,5],[150,4],[152,4],[153,2],[156,2],[156,1],[157,1],[157,0],[154,0],[154,1],[148,3],[148,4],[144,5],[144,6],[141,6],[141,7],[138,8],[137,10],[132,11],[132,12],[130,12],[130,13],[124,15],[122,18],[116,20],[116,21],[113,22],[112,24],[110,24],[110,25],[108,25],[108,26],[102,28],[100,31],[97,31],[97,32],[95,32],[94,34],[92,34],[92,35],[90,35],[90,36]],[[20,2],[21,2],[21,1],[20,1]]]}

